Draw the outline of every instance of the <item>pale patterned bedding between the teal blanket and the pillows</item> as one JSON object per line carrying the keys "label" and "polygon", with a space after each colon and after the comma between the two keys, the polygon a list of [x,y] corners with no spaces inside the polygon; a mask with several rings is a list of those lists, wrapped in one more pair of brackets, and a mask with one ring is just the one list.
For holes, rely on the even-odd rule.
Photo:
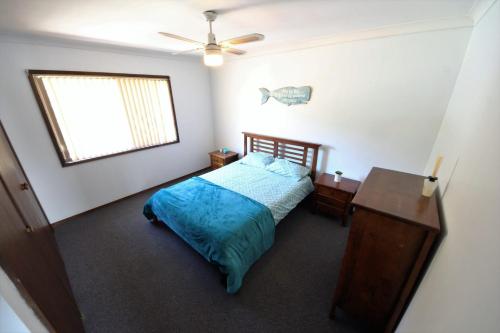
{"label": "pale patterned bedding between the teal blanket and the pillows", "polygon": [[271,210],[275,225],[314,191],[310,177],[297,181],[240,161],[200,177],[263,204]]}

